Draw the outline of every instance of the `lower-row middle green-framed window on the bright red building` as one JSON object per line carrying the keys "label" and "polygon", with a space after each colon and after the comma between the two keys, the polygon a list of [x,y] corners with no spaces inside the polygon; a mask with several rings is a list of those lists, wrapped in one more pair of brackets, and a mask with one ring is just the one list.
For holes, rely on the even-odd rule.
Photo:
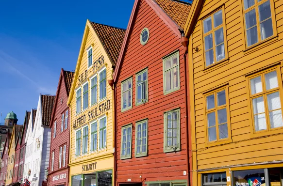
{"label": "lower-row middle green-framed window on the bright red building", "polygon": [[135,126],[135,156],[144,156],[148,153],[148,120],[136,123]]}

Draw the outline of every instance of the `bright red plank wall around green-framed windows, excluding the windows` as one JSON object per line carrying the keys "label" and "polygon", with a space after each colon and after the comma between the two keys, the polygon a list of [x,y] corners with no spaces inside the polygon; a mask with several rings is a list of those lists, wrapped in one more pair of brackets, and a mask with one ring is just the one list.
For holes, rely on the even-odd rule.
{"label": "bright red plank wall around green-framed windows, excluding the windows", "polygon": [[[143,28],[150,31],[150,39],[145,46],[140,44]],[[181,89],[164,95],[163,58],[180,50]],[[184,48],[180,37],[142,0],[133,26],[133,32],[125,54],[117,81],[117,183],[187,180],[183,171],[187,170],[187,147],[184,104]],[[149,101],[135,106],[135,73],[148,67]],[[133,108],[121,112],[121,81],[133,76]],[[164,153],[164,112],[181,108],[181,151]],[[148,118],[148,156],[135,157],[135,123]],[[133,124],[132,158],[121,160],[121,127]],[[188,173],[188,172],[187,172]],[[141,176],[141,178],[140,178]]]}

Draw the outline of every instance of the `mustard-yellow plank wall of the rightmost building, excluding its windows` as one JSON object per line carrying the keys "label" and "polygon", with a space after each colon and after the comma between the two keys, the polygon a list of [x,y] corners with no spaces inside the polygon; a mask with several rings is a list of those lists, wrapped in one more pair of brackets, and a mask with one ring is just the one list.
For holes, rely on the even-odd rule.
{"label": "mustard-yellow plank wall of the rightmost building, excluding its windows", "polygon": [[[194,0],[194,5],[199,0]],[[224,166],[259,163],[283,159],[283,128],[272,132],[255,134],[252,130],[250,94],[247,77],[260,69],[274,65],[283,74],[283,1],[270,0],[276,20],[275,36],[255,47],[245,46],[244,18],[241,0],[205,0],[195,19],[192,34],[188,35],[189,88],[191,106],[191,140],[193,162],[193,185],[197,183],[196,170],[221,168]],[[204,68],[202,43],[202,18],[223,8],[226,25],[228,59]],[[188,20],[190,17],[188,17]],[[187,23],[189,22],[187,20]],[[189,26],[189,25],[187,25]],[[185,29],[187,30],[187,29]],[[274,30],[273,30],[274,32]],[[200,51],[194,48],[198,47]],[[261,72],[261,71],[259,71]],[[282,79],[281,79],[282,80]],[[228,88],[231,139],[221,143],[208,144],[206,140],[205,98],[206,92],[218,87]],[[281,93],[281,97],[283,97]],[[283,102],[281,102],[283,107]],[[274,136],[269,136],[274,135]],[[240,168],[246,169],[246,168]],[[217,172],[219,170],[214,170]],[[201,173],[201,172],[200,172]]]}

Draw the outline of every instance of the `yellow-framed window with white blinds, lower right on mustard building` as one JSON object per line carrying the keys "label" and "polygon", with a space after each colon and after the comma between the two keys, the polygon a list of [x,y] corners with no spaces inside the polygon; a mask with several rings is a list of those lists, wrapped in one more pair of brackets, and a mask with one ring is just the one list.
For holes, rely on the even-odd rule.
{"label": "yellow-framed window with white blinds, lower right on mustard building", "polygon": [[250,78],[250,103],[255,131],[283,126],[278,77],[274,69]]}

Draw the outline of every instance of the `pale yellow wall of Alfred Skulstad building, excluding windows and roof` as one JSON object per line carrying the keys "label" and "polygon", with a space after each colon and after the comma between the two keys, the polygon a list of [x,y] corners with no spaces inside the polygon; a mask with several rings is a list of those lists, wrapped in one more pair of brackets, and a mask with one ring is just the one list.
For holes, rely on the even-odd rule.
{"label": "pale yellow wall of Alfred Skulstad building, excluding windows and roof", "polygon": [[[96,69],[93,70],[92,68],[88,69],[87,71],[87,81],[89,82],[89,107],[88,109],[85,109],[82,111],[80,114],[76,114],[76,92],[73,93],[73,95],[70,94],[71,97],[69,97],[70,100],[70,108],[71,108],[71,130],[70,130],[70,176],[82,173],[82,164],[85,163],[90,163],[90,162],[97,162],[97,169],[96,171],[100,170],[107,170],[107,169],[113,169],[114,167],[114,158],[113,158],[113,91],[111,87],[108,84],[108,79],[112,79],[112,63],[105,52],[105,50],[102,47],[102,44],[100,43],[100,40],[98,36],[96,35],[95,31],[93,28],[91,28],[91,24],[87,22],[87,26],[85,29],[84,33],[84,38],[83,38],[83,44],[81,48],[82,52],[82,58],[81,61],[78,62],[77,67],[76,67],[76,73],[78,71],[78,75],[81,75],[85,72],[85,70],[88,69],[87,67],[87,48],[93,45],[93,62],[99,59],[101,55],[104,56],[104,62],[105,64],[102,65],[97,71]],[[98,104],[95,104],[93,106],[90,106],[90,79],[93,77],[94,74],[96,74],[101,68],[106,67],[106,99],[99,100],[98,96]],[[98,74],[99,77],[99,74]],[[98,78],[99,79],[99,78]],[[76,89],[80,86],[78,77],[74,77],[73,80],[73,85],[75,86],[75,91]],[[83,82],[84,83],[84,82]],[[83,89],[82,89],[83,93]],[[99,93],[99,84],[98,84],[98,93]],[[104,113],[100,113],[99,108],[101,107],[101,104],[105,104],[107,100],[110,100],[110,109],[105,111]],[[83,103],[83,97],[82,97],[82,103]],[[106,140],[106,148],[104,149],[99,149],[99,128],[98,128],[98,144],[97,144],[97,151],[90,152],[90,139],[91,139],[91,125],[90,122],[93,120],[89,120],[88,112],[90,110],[93,110],[97,108],[98,109],[98,116],[94,118],[100,118],[100,116],[103,116],[104,114],[107,116],[107,140]],[[83,104],[82,104],[82,110],[83,110]],[[81,155],[81,156],[75,156],[75,147],[76,147],[76,130],[79,128],[82,128],[85,126],[83,124],[80,127],[76,127],[75,129],[73,128],[74,121],[77,120],[78,118],[82,117],[85,114],[86,116],[86,122],[85,124],[88,124],[88,131],[89,131],[89,136],[88,136],[88,153],[86,155]],[[98,121],[98,126],[99,126],[99,121]],[[82,131],[82,138],[83,138],[83,131]],[[83,145],[83,141],[81,142],[81,145]],[[107,159],[107,161],[103,160]],[[101,161],[101,162],[100,162]],[[80,165],[80,166],[79,166]],[[80,169],[77,169],[77,167],[80,167]],[[114,173],[114,172],[113,172]]]}

